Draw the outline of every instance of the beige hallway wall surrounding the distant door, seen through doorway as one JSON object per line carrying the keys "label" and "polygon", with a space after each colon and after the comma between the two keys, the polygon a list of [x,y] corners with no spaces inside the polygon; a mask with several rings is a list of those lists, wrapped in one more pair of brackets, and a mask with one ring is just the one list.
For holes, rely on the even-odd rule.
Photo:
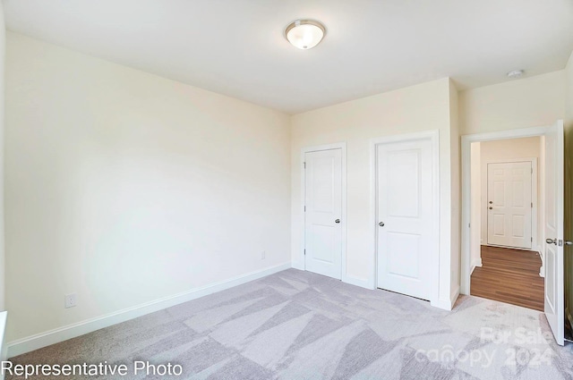
{"label": "beige hallway wall surrounding the distant door, seen through doorway", "polygon": [[500,139],[494,141],[484,141],[480,143],[480,156],[481,156],[481,207],[483,213],[481,213],[481,241],[482,244],[487,244],[487,164],[493,162],[503,162],[504,160],[511,160],[516,158],[535,158],[537,160],[537,228],[535,233],[535,246],[533,249],[540,249],[539,241],[540,237],[543,236],[541,232],[541,215],[543,215],[543,209],[541,207],[539,195],[542,192],[541,182],[542,178],[540,171],[543,170],[539,165],[539,158],[541,156],[541,137],[530,137],[525,139]]}

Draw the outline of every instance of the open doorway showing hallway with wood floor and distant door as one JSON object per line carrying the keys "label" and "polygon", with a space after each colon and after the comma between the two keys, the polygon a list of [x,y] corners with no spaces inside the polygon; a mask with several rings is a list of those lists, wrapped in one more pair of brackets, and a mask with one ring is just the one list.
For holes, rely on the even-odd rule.
{"label": "open doorway showing hallway with wood floor and distant door", "polygon": [[543,311],[544,144],[471,144],[471,295]]}

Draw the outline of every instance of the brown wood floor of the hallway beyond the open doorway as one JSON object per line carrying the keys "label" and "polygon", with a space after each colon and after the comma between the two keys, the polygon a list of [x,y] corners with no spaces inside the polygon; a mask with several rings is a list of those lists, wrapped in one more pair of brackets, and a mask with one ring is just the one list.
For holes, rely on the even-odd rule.
{"label": "brown wood floor of the hallway beyond the open doorway", "polygon": [[543,311],[541,258],[536,252],[482,246],[482,267],[472,274],[471,294]]}

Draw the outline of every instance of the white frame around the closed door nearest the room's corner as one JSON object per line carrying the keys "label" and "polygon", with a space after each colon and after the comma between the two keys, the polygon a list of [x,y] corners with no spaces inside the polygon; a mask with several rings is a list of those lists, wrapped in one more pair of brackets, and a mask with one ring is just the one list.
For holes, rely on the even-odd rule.
{"label": "white frame around the closed door nearest the room's corner", "polygon": [[342,282],[346,283],[346,142],[337,142],[332,144],[324,144],[324,145],[315,145],[312,147],[304,147],[301,148],[301,161],[300,165],[303,168],[301,170],[301,215],[303,215],[303,230],[302,230],[302,237],[301,239],[301,247],[300,247],[300,258],[303,262],[304,270],[306,271],[306,256],[304,255],[304,247],[306,247],[306,214],[304,212],[304,202],[306,200],[306,173],[304,168],[304,156],[306,153],[310,152],[319,152],[321,150],[332,150],[332,149],[341,149],[341,178],[342,178],[342,205],[341,205],[341,215],[340,215],[340,229],[342,231],[341,236],[341,245],[342,245],[342,253],[340,258],[340,279]]}

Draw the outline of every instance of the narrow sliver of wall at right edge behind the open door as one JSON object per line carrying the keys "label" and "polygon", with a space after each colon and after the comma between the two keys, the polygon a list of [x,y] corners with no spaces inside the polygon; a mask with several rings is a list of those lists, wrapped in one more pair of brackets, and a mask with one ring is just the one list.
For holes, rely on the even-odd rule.
{"label": "narrow sliver of wall at right edge behind the open door", "polygon": [[[573,241],[573,53],[565,69],[565,239]],[[565,246],[565,308],[573,325],[573,246]]]}

